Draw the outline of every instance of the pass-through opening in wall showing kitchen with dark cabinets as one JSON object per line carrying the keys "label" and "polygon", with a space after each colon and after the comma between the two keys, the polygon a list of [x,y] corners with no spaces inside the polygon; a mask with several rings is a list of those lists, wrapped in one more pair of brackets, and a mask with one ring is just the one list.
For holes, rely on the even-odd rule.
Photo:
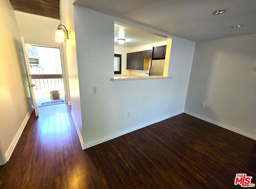
{"label": "pass-through opening in wall showing kitchen with dark cabinets", "polygon": [[[119,42],[120,40],[123,40],[122,43]],[[122,61],[118,66],[120,69],[118,73],[114,61],[114,76],[167,77],[171,45],[170,36],[115,22],[114,54],[119,54]]]}

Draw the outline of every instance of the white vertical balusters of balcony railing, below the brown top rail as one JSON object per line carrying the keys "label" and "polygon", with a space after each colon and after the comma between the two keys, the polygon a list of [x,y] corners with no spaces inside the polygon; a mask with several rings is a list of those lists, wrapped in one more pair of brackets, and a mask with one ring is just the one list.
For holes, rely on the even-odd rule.
{"label": "white vertical balusters of balcony railing, below the brown top rail", "polygon": [[52,90],[58,90],[59,94],[64,94],[63,78],[50,78],[50,79],[32,79],[35,95],[50,94]]}

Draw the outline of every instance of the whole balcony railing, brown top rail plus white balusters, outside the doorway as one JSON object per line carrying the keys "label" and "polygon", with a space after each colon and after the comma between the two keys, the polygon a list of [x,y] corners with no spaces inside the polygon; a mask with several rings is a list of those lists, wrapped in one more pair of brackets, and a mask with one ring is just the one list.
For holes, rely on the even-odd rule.
{"label": "whole balcony railing, brown top rail plus white balusters, outside the doorway", "polygon": [[64,84],[62,74],[54,75],[32,75],[32,84],[35,95],[50,94],[52,90],[58,90],[59,94],[64,94]]}

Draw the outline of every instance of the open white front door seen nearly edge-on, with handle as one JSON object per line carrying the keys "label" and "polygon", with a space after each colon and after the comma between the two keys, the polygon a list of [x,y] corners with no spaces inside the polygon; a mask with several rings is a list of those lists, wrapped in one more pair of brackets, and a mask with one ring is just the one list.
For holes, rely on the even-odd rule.
{"label": "open white front door seen nearly edge-on, with handle", "polygon": [[30,70],[29,70],[28,56],[27,56],[27,53],[26,53],[26,46],[25,46],[25,41],[24,41],[23,37],[21,37],[21,43],[22,43],[23,56],[24,56],[24,60],[25,60],[25,63],[26,63],[26,69],[27,69],[27,74],[28,74],[27,75],[27,77],[28,77],[28,87],[30,88],[30,94],[31,94],[33,105],[34,105],[35,114],[36,114],[36,117],[38,117],[38,109],[37,109],[37,106],[36,106],[36,99],[35,99],[34,90],[33,90],[33,87],[35,85],[32,84],[32,78],[31,78],[31,74],[30,74]]}

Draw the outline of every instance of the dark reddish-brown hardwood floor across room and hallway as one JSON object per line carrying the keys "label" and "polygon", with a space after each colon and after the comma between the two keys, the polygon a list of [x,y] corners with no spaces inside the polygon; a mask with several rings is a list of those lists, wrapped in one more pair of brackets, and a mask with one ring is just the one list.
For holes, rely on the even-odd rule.
{"label": "dark reddish-brown hardwood floor across room and hallway", "polygon": [[[6,165],[1,189],[230,189],[256,183],[256,141],[185,113],[82,150],[66,104],[39,108]],[[86,131],[84,131],[86,132]]]}

